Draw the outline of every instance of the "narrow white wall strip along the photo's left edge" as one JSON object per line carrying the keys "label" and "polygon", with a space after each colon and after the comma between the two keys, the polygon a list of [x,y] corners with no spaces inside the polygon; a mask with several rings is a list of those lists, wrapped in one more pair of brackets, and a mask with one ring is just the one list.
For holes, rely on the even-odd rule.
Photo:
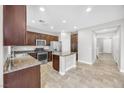
{"label": "narrow white wall strip along the photo's left edge", "polygon": [[0,5],[0,87],[3,87],[3,6]]}

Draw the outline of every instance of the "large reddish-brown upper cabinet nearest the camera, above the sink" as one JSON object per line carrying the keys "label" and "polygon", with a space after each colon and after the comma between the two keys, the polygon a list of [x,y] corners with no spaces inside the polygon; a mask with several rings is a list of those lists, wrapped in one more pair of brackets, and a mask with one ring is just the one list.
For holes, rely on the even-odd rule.
{"label": "large reddish-brown upper cabinet nearest the camera, above the sink", "polygon": [[4,45],[25,45],[26,6],[3,6]]}

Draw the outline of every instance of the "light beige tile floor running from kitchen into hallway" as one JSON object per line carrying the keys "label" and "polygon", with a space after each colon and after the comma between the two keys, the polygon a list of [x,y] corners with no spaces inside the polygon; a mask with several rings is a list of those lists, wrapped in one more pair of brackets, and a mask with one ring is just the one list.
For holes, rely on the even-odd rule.
{"label": "light beige tile floor running from kitchen into hallway", "polygon": [[100,54],[93,65],[77,63],[64,76],[52,69],[51,62],[41,65],[42,87],[124,87],[124,73],[118,71],[111,54]]}

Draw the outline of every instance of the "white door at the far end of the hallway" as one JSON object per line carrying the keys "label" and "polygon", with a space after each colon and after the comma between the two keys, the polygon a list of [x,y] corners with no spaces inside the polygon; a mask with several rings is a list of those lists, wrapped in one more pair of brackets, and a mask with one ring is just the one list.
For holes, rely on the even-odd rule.
{"label": "white door at the far end of the hallway", "polygon": [[112,39],[103,39],[103,53],[112,53]]}

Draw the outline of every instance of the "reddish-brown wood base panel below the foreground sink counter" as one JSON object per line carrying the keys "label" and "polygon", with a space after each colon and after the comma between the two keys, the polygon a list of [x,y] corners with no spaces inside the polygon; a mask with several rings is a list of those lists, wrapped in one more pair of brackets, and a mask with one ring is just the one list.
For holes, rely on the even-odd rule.
{"label": "reddish-brown wood base panel below the foreground sink counter", "polygon": [[5,88],[40,88],[40,65],[4,74]]}

